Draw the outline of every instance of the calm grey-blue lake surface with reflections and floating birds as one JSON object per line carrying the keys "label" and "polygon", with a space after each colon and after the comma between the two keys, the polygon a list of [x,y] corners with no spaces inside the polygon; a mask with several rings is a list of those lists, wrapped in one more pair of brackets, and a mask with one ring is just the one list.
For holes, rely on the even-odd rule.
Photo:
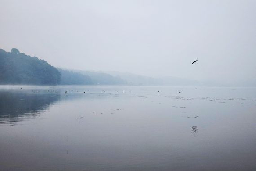
{"label": "calm grey-blue lake surface with reflections and floating birds", "polygon": [[255,161],[256,88],[0,87],[1,171],[255,171]]}

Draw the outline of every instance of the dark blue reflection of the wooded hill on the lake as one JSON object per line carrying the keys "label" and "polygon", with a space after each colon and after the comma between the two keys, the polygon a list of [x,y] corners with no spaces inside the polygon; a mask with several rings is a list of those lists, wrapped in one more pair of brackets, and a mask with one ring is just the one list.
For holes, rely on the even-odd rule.
{"label": "dark blue reflection of the wooded hill on the lake", "polygon": [[24,119],[35,119],[55,101],[58,94],[0,91],[0,123],[17,125]]}

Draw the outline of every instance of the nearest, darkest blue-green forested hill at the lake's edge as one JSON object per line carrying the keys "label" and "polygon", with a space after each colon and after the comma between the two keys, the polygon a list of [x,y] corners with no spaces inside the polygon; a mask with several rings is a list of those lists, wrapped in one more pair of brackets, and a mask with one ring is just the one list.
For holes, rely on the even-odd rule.
{"label": "nearest, darkest blue-green forested hill at the lake's edge", "polygon": [[37,57],[0,49],[0,84],[58,85],[61,73]]}

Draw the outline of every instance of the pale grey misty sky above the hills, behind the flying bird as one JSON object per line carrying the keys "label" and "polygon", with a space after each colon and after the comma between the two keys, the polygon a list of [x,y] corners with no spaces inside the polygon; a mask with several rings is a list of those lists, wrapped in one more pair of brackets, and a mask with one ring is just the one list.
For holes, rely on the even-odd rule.
{"label": "pale grey misty sky above the hills, behind the flying bird", "polygon": [[256,83],[256,0],[0,0],[0,48],[67,69]]}

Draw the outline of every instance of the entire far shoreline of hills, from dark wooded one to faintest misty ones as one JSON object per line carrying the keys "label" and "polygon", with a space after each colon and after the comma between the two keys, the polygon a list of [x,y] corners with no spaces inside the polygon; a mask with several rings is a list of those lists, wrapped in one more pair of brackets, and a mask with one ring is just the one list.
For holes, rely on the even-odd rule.
{"label": "entire far shoreline of hills, from dark wooded one to faintest misty ones", "polygon": [[153,78],[129,72],[93,72],[55,68],[47,61],[0,49],[0,84],[2,85],[141,85],[141,86],[253,86],[254,80],[244,83],[217,83],[173,76]]}

